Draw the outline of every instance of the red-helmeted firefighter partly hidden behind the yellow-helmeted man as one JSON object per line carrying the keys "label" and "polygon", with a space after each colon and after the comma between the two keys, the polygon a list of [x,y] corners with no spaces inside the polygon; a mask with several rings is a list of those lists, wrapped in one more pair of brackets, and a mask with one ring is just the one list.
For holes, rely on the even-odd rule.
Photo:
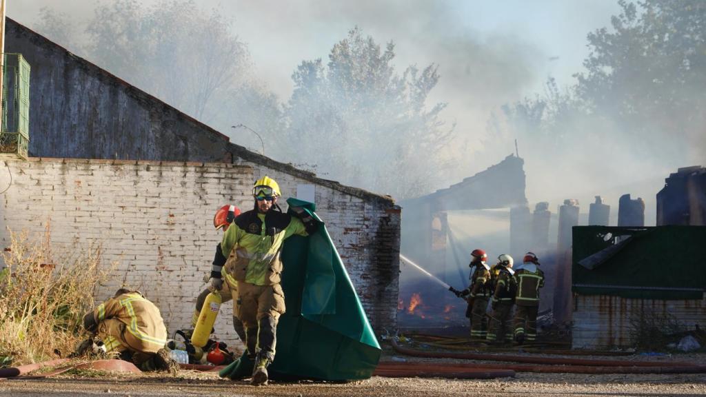
{"label": "red-helmeted firefighter partly hidden behind the yellow-helmeted man", "polygon": [[[221,208],[218,208],[216,214],[213,216],[213,226],[216,229],[222,230],[224,233],[228,230],[228,227],[235,220],[235,218],[240,215],[240,208],[232,204],[226,204]],[[191,329],[196,328],[196,322],[198,321],[198,316],[201,314],[201,308],[203,307],[203,302],[206,300],[206,296],[210,292],[217,291],[220,292],[221,302],[225,303],[232,300],[233,297],[237,297],[237,282],[232,276],[228,275],[223,271],[223,265],[220,263],[220,258],[223,256],[222,250],[220,248],[220,243],[216,246],[216,256],[213,259],[211,266],[211,272],[204,278],[205,282],[210,279],[210,288],[205,288],[201,294],[196,298],[196,310],[193,312],[191,318]],[[225,283],[224,283],[225,278]],[[238,334],[238,338],[245,343],[245,329],[243,322],[237,316],[236,305],[233,304],[233,328]],[[191,337],[191,335],[189,335]]]}

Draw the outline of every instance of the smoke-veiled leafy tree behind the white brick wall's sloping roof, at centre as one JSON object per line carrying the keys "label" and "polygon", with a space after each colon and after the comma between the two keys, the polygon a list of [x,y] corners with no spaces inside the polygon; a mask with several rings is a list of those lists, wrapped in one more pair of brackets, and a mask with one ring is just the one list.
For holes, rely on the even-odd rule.
{"label": "smoke-veiled leafy tree behind the white brick wall's sloping roof, at centre", "polygon": [[409,66],[400,75],[394,49],[354,28],[325,66],[321,59],[301,62],[285,109],[287,136],[299,143],[291,155],[318,173],[409,198],[435,186],[443,167],[438,150],[452,131],[439,118],[444,104],[426,107],[436,66]]}

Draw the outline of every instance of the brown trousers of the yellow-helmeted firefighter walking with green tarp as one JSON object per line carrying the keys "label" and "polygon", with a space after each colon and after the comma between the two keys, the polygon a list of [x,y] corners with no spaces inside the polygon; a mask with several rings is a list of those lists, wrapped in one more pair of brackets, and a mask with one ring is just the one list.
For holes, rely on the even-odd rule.
{"label": "brown trousers of the yellow-helmeted firefighter walking with green tarp", "polygon": [[245,327],[245,344],[248,355],[259,354],[275,360],[277,321],[285,313],[285,292],[279,283],[254,285],[238,282],[235,300],[237,316]]}

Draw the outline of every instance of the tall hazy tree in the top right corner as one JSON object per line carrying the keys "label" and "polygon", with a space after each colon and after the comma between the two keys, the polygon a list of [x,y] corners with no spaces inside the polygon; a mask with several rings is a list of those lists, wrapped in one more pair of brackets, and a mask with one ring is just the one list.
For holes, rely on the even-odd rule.
{"label": "tall hazy tree in the top right corner", "polygon": [[706,3],[618,3],[613,29],[588,35],[591,53],[587,72],[577,75],[578,99],[645,155],[683,156],[697,142],[704,153]]}

